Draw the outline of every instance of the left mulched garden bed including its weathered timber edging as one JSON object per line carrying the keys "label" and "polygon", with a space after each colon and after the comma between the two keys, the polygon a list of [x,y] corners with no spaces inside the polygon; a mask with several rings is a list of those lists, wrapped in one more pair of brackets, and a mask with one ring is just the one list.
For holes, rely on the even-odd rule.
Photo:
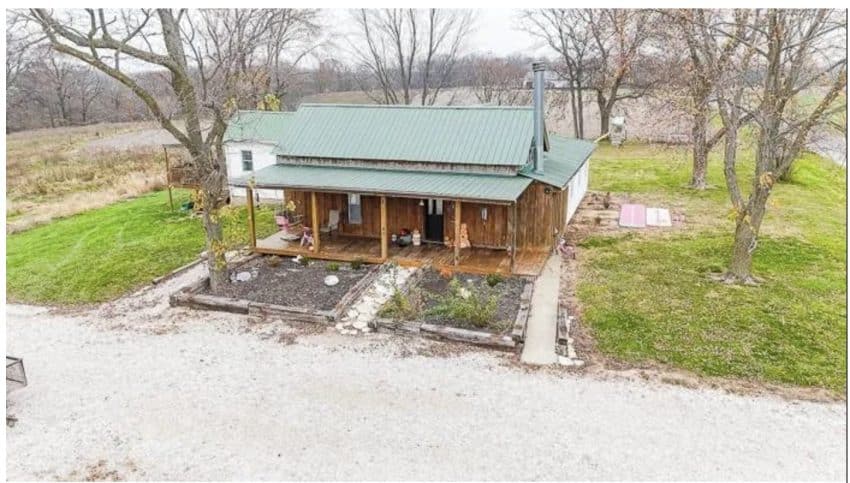
{"label": "left mulched garden bed including its weathered timber edging", "polygon": [[[305,265],[289,257],[258,256],[231,267],[231,280],[219,293],[211,292],[205,278],[172,295],[171,304],[331,323],[368,288],[377,268],[316,260]],[[325,285],[329,275],[339,279],[336,285]],[[240,281],[237,276],[250,278]]]}

